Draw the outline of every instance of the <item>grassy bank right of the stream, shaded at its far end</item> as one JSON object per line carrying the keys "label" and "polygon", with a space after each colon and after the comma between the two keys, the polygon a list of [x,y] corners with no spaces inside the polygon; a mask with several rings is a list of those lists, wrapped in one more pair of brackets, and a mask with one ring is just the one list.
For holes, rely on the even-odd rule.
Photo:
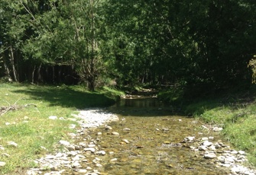
{"label": "grassy bank right of the stream, shaded at its far end", "polygon": [[256,166],[256,102],[255,87],[229,91],[207,97],[188,99],[183,91],[161,92],[159,97],[173,104],[184,115],[198,117],[211,125],[223,127],[222,134],[238,150],[248,153],[248,160]]}

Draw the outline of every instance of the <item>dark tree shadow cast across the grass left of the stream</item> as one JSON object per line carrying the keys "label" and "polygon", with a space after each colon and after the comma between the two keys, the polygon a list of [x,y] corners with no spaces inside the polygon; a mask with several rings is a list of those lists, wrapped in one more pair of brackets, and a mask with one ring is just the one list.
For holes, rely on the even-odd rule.
{"label": "dark tree shadow cast across the grass left of the stream", "polygon": [[83,110],[87,107],[108,107],[115,100],[97,92],[78,91],[71,87],[28,87],[15,93],[27,94],[33,100],[45,100],[50,106],[75,107]]}

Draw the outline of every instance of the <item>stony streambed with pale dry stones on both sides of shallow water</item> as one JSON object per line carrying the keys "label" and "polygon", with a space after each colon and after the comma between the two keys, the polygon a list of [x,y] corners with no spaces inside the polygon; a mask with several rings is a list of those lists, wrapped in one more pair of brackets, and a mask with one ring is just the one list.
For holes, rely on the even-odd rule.
{"label": "stony streambed with pale dry stones on both sides of shallow water", "polygon": [[[153,114],[154,112],[158,113]],[[119,113],[119,117],[113,113]],[[131,112],[135,112],[131,113]],[[122,113],[125,113],[122,114]],[[137,114],[136,114],[137,113]],[[146,115],[145,115],[146,113]],[[89,109],[62,150],[34,160],[27,174],[255,174],[245,151],[219,136],[221,128],[195,119],[167,116],[162,109]]]}

